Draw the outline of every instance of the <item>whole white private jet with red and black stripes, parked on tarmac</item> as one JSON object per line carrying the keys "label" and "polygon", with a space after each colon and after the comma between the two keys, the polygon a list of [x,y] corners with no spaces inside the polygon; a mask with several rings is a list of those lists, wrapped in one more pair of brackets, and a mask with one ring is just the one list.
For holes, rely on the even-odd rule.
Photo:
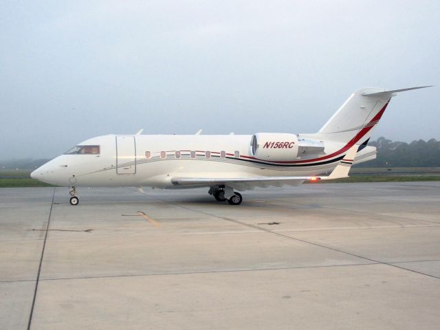
{"label": "whole white private jet with red and black stripes, parked on tarmac", "polygon": [[[238,205],[239,192],[348,177],[351,165],[376,157],[373,127],[399,91],[358,89],[318,133],[254,135],[103,135],[81,142],[31,177],[71,187],[209,188],[217,201]],[[320,176],[331,171],[329,176]]]}

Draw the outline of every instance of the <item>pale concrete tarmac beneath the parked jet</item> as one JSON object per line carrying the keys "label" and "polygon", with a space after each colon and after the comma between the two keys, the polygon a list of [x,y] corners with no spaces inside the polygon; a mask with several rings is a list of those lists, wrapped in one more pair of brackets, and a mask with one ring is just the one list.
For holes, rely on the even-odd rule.
{"label": "pale concrete tarmac beneath the parked jet", "polygon": [[439,329],[440,182],[0,189],[0,329]]}

